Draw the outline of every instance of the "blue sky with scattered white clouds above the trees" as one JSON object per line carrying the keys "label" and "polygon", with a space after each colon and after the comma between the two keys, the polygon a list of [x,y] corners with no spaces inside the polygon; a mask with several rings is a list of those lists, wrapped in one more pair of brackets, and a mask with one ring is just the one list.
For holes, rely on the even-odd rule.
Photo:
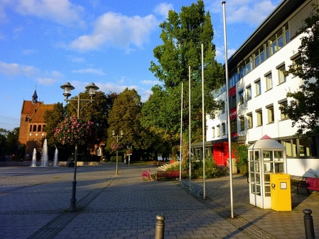
{"label": "blue sky with scattered white clouds above the trees", "polygon": [[[281,0],[226,1],[230,57]],[[161,84],[148,70],[163,44],[168,10],[196,0],[0,0],[0,128],[19,127],[23,100],[65,104],[91,82],[105,94],[136,89],[141,101]],[[222,1],[204,0],[214,28],[217,62],[225,62]]]}

